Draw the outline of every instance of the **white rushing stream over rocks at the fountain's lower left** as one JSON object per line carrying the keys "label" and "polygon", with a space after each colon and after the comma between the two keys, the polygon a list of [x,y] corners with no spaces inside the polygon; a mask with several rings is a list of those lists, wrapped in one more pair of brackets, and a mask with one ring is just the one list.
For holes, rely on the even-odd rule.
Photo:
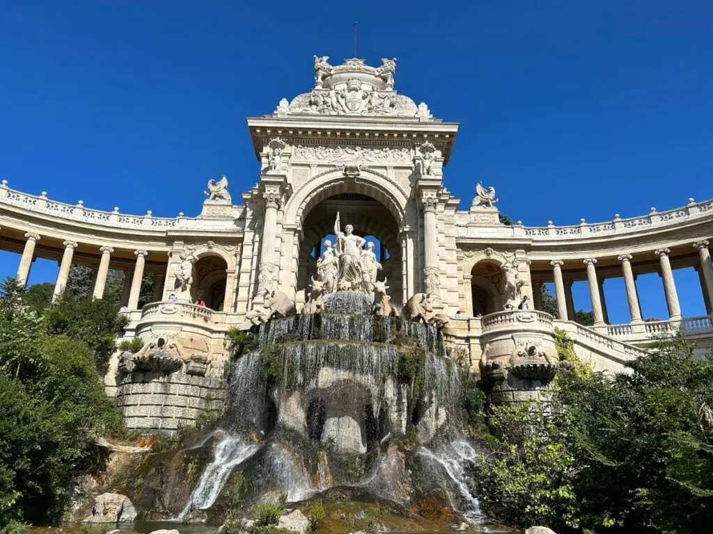
{"label": "white rushing stream over rocks at the fountain's lower left", "polygon": [[215,446],[213,461],[205,466],[198,483],[193,488],[188,502],[176,519],[183,520],[191,510],[210,508],[223,486],[232,468],[250,458],[260,447],[246,441],[236,434],[225,434]]}

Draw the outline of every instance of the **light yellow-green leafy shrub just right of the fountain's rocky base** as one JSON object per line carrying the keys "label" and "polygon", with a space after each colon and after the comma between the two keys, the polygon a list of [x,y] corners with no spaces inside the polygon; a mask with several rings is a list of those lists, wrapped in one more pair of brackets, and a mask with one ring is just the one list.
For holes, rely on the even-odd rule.
{"label": "light yellow-green leafy shrub just right of the fountain's rocky base", "polygon": [[494,407],[499,437],[480,466],[483,510],[508,525],[578,526],[571,478],[575,459],[564,442],[566,424],[555,424],[541,402]]}

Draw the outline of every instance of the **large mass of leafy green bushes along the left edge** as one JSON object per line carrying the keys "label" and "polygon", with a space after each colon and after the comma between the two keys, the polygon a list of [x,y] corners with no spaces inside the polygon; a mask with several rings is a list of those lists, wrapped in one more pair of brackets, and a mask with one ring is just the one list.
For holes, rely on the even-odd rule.
{"label": "large mass of leafy green bushes along the left edge", "polygon": [[54,305],[39,315],[25,295],[0,284],[0,525],[58,518],[76,477],[108,459],[96,437],[125,431],[92,348],[76,329],[51,328]]}

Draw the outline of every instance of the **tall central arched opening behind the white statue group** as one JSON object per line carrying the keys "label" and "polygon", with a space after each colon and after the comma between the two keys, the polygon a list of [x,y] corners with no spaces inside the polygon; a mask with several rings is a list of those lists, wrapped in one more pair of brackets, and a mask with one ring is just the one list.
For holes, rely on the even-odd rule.
{"label": "tall central arched opening behind the white statue group", "polygon": [[367,244],[374,244],[376,260],[381,263],[381,271],[376,278],[386,278],[392,302],[401,303],[403,268],[396,219],[380,201],[353,192],[334,194],[320,201],[304,217],[304,239],[299,248],[297,273],[298,300],[306,298],[312,277],[317,278],[317,259],[324,251],[324,240],[329,239],[334,243],[337,211],[342,231],[347,224],[351,224],[354,226],[354,234],[364,237]]}

